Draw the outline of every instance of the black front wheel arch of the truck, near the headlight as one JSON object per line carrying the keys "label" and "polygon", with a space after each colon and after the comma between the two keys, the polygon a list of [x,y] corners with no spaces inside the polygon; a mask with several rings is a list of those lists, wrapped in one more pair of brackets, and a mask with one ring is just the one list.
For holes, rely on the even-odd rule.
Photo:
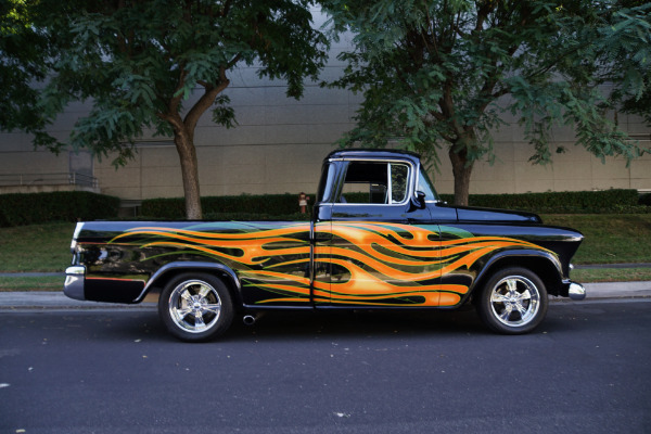
{"label": "black front wheel arch of the truck, near the headlight", "polygon": [[539,251],[503,252],[495,255],[477,275],[470,293],[481,291],[493,275],[509,267],[531,270],[540,278],[548,294],[560,295],[563,279],[561,263],[554,255]]}

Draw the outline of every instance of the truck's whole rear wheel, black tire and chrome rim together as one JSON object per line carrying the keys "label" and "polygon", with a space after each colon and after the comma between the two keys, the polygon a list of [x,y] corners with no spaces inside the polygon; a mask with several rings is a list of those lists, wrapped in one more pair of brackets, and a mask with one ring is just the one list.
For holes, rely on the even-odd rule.
{"label": "truck's whole rear wheel, black tire and chrome rim together", "polygon": [[203,342],[226,332],[233,320],[233,303],[221,280],[207,273],[183,273],[165,286],[158,316],[167,330],[186,342]]}

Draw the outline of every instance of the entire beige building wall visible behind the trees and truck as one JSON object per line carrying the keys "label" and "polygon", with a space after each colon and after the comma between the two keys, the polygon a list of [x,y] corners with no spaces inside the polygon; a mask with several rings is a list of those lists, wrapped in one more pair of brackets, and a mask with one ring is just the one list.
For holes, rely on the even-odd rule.
{"label": "entire beige building wall visible behind the trees and truck", "polygon": [[[342,90],[309,86],[301,101],[286,99],[282,86],[260,86],[251,72],[242,72],[240,84],[228,90],[239,126],[225,129],[212,125],[206,114],[196,129],[202,195],[314,193],[323,157],[333,143],[353,127],[352,116],[359,98]],[[253,75],[253,74],[252,74]],[[62,115],[54,132],[69,133],[74,119],[84,112]],[[620,116],[621,126],[638,137],[651,131],[640,119]],[[607,158],[605,164],[574,145],[572,131],[554,131],[553,163],[532,165],[533,149],[522,142],[518,126],[495,135],[496,162],[480,162],[473,169],[471,193],[522,193],[544,191],[604,190],[612,188],[651,190],[651,156],[630,163]],[[642,144],[651,146],[649,140]],[[447,155],[441,155],[438,173],[432,173],[441,193],[454,191]],[[34,150],[30,138],[21,133],[0,135],[0,180],[9,175],[54,174],[69,170],[69,156]],[[94,161],[100,190],[125,200],[182,196],[178,155],[171,140],[141,143],[137,157],[115,169],[110,158]]]}

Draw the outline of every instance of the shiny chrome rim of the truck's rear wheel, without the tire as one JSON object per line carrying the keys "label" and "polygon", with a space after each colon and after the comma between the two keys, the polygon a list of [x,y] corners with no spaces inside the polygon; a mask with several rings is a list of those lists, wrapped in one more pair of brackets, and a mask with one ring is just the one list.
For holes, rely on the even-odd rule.
{"label": "shiny chrome rim of the truck's rear wheel, without the tire", "polygon": [[210,329],[221,314],[219,294],[202,280],[181,282],[171,292],[168,305],[174,323],[190,333],[202,333]]}

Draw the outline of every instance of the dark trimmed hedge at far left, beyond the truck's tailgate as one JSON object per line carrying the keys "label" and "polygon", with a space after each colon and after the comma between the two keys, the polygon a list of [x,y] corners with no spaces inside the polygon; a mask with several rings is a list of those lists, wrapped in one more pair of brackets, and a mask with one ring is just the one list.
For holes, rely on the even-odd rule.
{"label": "dark trimmed hedge at far left, beyond the truck's tailgate", "polygon": [[86,191],[0,194],[0,227],[117,217],[119,199]]}

